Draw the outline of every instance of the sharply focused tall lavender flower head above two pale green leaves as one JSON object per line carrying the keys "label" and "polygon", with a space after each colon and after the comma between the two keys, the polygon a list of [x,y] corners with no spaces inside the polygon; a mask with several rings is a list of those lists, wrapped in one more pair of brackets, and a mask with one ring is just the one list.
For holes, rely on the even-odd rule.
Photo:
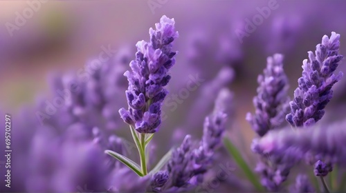
{"label": "sharply focused tall lavender flower head above two pale green leaves", "polygon": [[150,28],[150,42],[138,41],[136,59],[130,62],[131,72],[124,74],[129,81],[129,110],[121,108],[119,113],[140,133],[157,132],[161,125],[161,105],[167,95],[164,86],[171,79],[168,70],[175,63],[172,41],[179,37],[174,23],[164,15],[155,24],[156,30]]}

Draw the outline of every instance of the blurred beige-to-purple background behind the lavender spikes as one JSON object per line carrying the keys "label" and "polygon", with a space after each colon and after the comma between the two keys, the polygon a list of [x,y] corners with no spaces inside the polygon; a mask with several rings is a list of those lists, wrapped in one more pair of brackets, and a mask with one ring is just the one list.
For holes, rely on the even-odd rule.
{"label": "blurred beige-to-purple background behind the lavender spikes", "polygon": [[[165,14],[175,19],[180,35],[174,46],[179,54],[171,71],[172,82],[168,90],[173,94],[178,93],[185,88],[189,76],[197,73],[206,81],[191,92],[176,110],[166,107],[167,119],[154,139],[158,144],[165,144],[159,145],[162,152],[158,155],[164,154],[172,143],[180,143],[183,134],[201,135],[201,130],[194,128],[202,128],[203,119],[212,110],[212,103],[222,86],[230,88],[235,96],[235,123],[229,129],[232,130],[229,135],[237,141],[246,139],[238,143],[244,145],[245,152],[250,153],[250,141],[255,133],[244,118],[246,112],[253,111],[257,75],[262,73],[266,65],[266,57],[275,52],[284,54],[284,68],[291,83],[289,93],[293,96],[302,72],[302,60],[307,58],[307,51],[315,50],[324,34],[329,36],[332,31],[339,33],[340,54],[346,54],[346,41],[343,41],[346,38],[346,1],[341,0],[277,0],[277,8],[271,10],[267,18],[262,17],[260,25],[255,26],[248,37],[242,38],[241,43],[236,31],[246,31],[246,19],[252,20],[259,14],[259,9],[268,7],[269,2],[47,1],[36,7],[37,11],[26,19],[19,30],[8,32],[6,23],[15,23],[16,12],[22,14],[30,6],[27,1],[0,1],[1,112],[15,117],[21,107],[36,103],[40,96],[54,97],[56,93],[50,83],[53,75],[75,74],[84,68],[89,59],[98,57],[102,46],[110,46],[117,53],[127,49],[129,60],[134,59],[136,42],[148,40],[148,29],[154,27],[154,23]],[[225,72],[230,68],[234,72]],[[340,64],[341,69],[346,72],[345,62]],[[125,70],[120,68],[122,72]],[[226,75],[220,74],[223,72]],[[233,79],[232,73],[235,74]],[[119,78],[124,85],[127,84],[125,77]],[[215,79],[218,81],[213,85]],[[218,85],[220,83],[222,85]],[[328,109],[346,110],[345,86],[344,77],[336,85],[335,97]],[[120,98],[115,100],[125,102],[126,87],[118,94]],[[209,93],[210,89],[215,89],[215,93]],[[203,94],[211,94],[210,101],[199,102]],[[203,99],[208,97],[203,96]],[[206,107],[199,110],[203,105]],[[331,112],[328,109],[327,117]],[[194,112],[199,112],[196,119]],[[329,119],[342,119],[343,116],[337,114]],[[128,137],[125,124],[120,123],[120,127],[124,129],[117,131],[117,134]],[[176,128],[184,130],[183,134],[174,132]]]}

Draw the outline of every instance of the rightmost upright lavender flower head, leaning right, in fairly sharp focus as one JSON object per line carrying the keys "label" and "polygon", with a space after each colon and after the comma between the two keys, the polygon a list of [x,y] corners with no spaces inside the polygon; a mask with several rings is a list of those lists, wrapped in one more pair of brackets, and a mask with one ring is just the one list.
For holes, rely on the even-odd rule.
{"label": "rightmost upright lavender flower head, leaning right, in fairly sharp focus", "polygon": [[[331,37],[322,37],[322,43],[316,45],[315,54],[309,51],[309,61],[304,59],[302,77],[298,79],[298,88],[290,102],[291,113],[286,115],[293,127],[313,125],[325,114],[325,106],[333,96],[332,86],[343,77],[334,71],[343,56],[338,54],[340,34],[331,32]],[[315,56],[316,55],[316,56]]]}

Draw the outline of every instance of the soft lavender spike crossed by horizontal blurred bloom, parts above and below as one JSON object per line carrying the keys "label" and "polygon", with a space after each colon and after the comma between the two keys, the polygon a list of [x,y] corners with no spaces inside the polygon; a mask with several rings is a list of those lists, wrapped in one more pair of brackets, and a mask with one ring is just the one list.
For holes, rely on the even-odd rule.
{"label": "soft lavender spike crossed by horizontal blurred bloom, parts above and below", "polygon": [[[259,75],[257,96],[253,99],[255,114],[248,112],[246,120],[259,136],[269,130],[275,130],[284,121],[284,114],[289,108],[288,79],[284,73],[282,54],[267,58],[264,74]],[[256,172],[261,176],[261,183],[267,190],[278,191],[289,174],[290,165],[282,163],[280,157],[268,159],[262,155],[257,163]]]}

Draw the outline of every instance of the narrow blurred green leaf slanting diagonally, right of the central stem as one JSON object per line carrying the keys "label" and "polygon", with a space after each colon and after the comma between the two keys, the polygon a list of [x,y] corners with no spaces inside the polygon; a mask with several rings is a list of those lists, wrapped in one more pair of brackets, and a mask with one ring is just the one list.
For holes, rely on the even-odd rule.
{"label": "narrow blurred green leaf slanting diagonally, right of the central stem", "polygon": [[258,181],[258,177],[255,175],[255,173],[253,173],[235,145],[233,145],[233,143],[226,137],[224,138],[224,145],[230,155],[233,156],[233,159],[235,160],[237,165],[243,170],[248,180],[251,181],[255,189],[259,192],[264,192],[264,188],[261,185],[260,181]]}

